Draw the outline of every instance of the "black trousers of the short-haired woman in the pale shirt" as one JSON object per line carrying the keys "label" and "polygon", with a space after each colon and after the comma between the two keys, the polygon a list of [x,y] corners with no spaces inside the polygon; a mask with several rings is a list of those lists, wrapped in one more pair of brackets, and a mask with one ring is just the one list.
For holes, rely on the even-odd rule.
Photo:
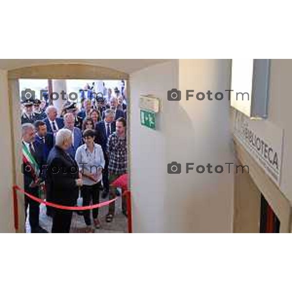
{"label": "black trousers of the short-haired woman in the pale shirt", "polygon": [[[99,203],[99,190],[101,187],[101,182],[95,183],[93,185],[82,185],[81,187],[81,197],[83,199],[83,206],[89,206],[92,201],[92,205]],[[92,209],[93,219],[98,217],[98,209]],[[91,225],[90,210],[83,211],[84,221],[87,226]]]}

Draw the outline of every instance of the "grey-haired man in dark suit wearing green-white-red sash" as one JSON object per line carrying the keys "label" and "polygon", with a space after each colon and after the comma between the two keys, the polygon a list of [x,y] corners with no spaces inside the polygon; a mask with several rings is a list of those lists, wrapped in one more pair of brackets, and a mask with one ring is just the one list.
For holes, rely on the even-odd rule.
{"label": "grey-haired man in dark suit wearing green-white-red sash", "polygon": [[[39,197],[39,184],[42,180],[43,149],[35,142],[35,127],[32,124],[22,124],[22,173],[24,175],[24,190]],[[39,203],[25,196],[25,215],[29,206],[29,223],[32,233],[47,233],[39,226]]]}

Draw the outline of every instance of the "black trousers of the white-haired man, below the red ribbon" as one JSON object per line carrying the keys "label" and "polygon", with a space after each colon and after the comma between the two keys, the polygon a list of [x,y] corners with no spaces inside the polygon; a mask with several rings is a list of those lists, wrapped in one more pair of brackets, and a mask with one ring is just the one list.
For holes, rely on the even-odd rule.
{"label": "black trousers of the white-haired man, below the red ribbon", "polygon": [[55,209],[52,233],[69,233],[72,220],[72,211]]}

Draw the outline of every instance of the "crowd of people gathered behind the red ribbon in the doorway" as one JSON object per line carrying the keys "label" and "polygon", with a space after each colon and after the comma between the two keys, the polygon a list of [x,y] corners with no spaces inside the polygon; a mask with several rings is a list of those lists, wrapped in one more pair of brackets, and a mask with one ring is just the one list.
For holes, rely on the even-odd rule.
{"label": "crowd of people gathered behind the red ribbon in the doorway", "polygon": [[[86,92],[86,94],[84,93]],[[113,94],[114,92],[114,94]],[[83,206],[99,203],[100,193],[109,200],[119,195],[111,183],[127,173],[127,97],[124,88],[105,89],[93,94],[86,85],[80,91],[81,107],[67,101],[58,115],[54,105],[38,99],[22,101],[22,147],[24,189],[35,197],[45,194],[46,201],[75,206],[80,195]],[[46,233],[39,224],[39,204],[25,197],[25,214],[29,207],[32,233]],[[122,211],[127,208],[122,197]],[[70,231],[72,211],[47,206],[53,218],[53,233]],[[78,213],[84,217],[85,232],[101,228],[98,208]],[[115,214],[110,203],[106,221]]]}

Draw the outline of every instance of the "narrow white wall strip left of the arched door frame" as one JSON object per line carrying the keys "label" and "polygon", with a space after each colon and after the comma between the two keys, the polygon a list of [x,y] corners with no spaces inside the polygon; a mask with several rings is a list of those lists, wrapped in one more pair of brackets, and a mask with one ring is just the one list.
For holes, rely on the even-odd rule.
{"label": "narrow white wall strip left of the arched door frame", "polygon": [[12,205],[12,144],[7,72],[0,70],[0,233],[14,232]]}

